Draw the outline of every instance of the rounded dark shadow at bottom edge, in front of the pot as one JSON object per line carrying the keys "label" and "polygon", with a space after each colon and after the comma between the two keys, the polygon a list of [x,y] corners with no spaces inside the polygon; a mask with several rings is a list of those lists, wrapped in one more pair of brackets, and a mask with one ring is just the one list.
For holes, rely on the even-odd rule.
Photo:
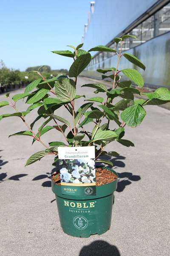
{"label": "rounded dark shadow at bottom edge, in front of the pot", "polygon": [[103,240],[97,240],[87,246],[83,246],[79,256],[120,256],[115,245],[111,245]]}

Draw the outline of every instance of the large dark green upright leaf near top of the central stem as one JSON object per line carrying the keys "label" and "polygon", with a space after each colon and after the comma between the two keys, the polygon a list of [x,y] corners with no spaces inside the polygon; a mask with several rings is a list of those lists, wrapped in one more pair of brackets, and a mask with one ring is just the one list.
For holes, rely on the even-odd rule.
{"label": "large dark green upright leaf near top of the central stem", "polygon": [[91,55],[90,53],[80,55],[71,65],[68,76],[77,77],[90,63]]}

